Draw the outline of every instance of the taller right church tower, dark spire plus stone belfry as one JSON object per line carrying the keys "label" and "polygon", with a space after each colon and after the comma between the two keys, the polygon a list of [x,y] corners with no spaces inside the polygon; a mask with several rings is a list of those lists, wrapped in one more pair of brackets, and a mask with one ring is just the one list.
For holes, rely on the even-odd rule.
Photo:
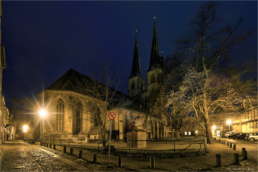
{"label": "taller right church tower, dark spire plus stone belfry", "polygon": [[150,54],[150,66],[148,71],[146,72],[147,91],[150,91],[151,89],[155,88],[155,85],[158,83],[158,79],[160,78],[159,76],[162,74],[163,67],[163,56],[160,57],[158,35],[154,16],[154,29]]}

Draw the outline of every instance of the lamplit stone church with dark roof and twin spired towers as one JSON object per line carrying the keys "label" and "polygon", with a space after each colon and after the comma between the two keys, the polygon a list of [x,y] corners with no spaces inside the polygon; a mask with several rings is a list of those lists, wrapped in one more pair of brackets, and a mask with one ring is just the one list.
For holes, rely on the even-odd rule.
{"label": "lamplit stone church with dark roof and twin spired towers", "polygon": [[[137,33],[137,31],[136,31]],[[149,110],[144,106],[148,89],[155,87],[155,78],[162,72],[163,57],[160,56],[156,24],[154,22],[153,40],[150,57],[150,67],[147,71],[147,89],[142,77],[137,34],[133,55],[131,76],[128,78],[128,96],[131,101],[125,107],[110,109],[116,118],[112,121],[111,137],[117,140],[126,140],[126,132],[132,128],[146,131],[146,139],[164,138],[162,120],[149,115]],[[109,137],[110,120],[104,125],[104,110],[99,109],[100,125],[96,125],[90,111],[94,101],[90,95],[78,92],[75,78],[83,76],[91,78],[70,69],[52,85],[38,94],[41,107],[47,107],[47,117],[44,119],[44,138],[101,138],[100,128],[106,132],[105,138]],[[123,94],[120,93],[119,94]],[[103,102],[100,102],[100,104]],[[35,109],[35,111],[38,111]],[[35,127],[33,136],[41,138],[42,120],[38,114],[34,116]],[[102,130],[101,129],[101,130]]]}

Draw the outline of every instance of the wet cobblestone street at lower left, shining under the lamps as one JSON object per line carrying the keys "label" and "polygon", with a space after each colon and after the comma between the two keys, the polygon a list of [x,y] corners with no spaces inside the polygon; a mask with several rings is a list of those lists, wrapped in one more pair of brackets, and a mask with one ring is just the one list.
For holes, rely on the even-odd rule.
{"label": "wet cobblestone street at lower left, shining under the lamps", "polygon": [[50,152],[20,141],[12,141],[8,147],[2,143],[0,171],[128,171],[66,156],[56,150]]}

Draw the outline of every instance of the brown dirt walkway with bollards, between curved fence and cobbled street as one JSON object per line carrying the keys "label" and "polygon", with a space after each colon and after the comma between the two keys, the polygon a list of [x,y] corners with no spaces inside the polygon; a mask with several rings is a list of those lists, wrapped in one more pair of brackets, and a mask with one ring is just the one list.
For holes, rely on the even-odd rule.
{"label": "brown dirt walkway with bollards, between curved fence and cobbled street", "polygon": [[[40,148],[45,148],[39,145],[36,145]],[[53,148],[53,147],[52,147]],[[63,152],[63,146],[56,145],[56,149],[59,152]],[[66,148],[67,156],[66,158],[78,158],[79,148],[73,148],[73,156],[68,155],[70,153],[70,147]],[[234,163],[234,153],[238,153],[239,162],[242,165],[235,165]],[[101,165],[106,165],[108,162],[107,154],[100,154],[96,151],[83,150],[82,159],[92,163],[94,154],[97,154],[97,163]],[[216,154],[221,154],[221,166],[216,167]],[[111,164],[108,166],[118,166],[118,155],[110,154]],[[183,158],[161,158],[155,157],[155,169],[150,168],[150,158],[149,157],[130,157],[128,155],[122,155],[122,167],[128,169],[128,171],[239,171],[232,170],[228,167],[231,166],[247,169],[240,171],[257,171],[257,157],[251,156],[248,154],[248,160],[243,159],[242,152],[233,150],[224,144],[214,142],[214,145],[208,145],[208,153],[204,155],[192,155],[189,157]],[[252,169],[252,170],[248,170]]]}

